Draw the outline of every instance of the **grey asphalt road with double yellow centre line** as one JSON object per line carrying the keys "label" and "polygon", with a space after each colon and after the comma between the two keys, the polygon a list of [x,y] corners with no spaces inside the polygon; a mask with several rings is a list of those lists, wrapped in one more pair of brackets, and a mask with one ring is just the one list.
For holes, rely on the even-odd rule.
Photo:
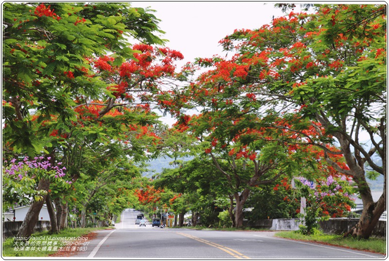
{"label": "grey asphalt road with double yellow centre line", "polygon": [[212,231],[135,225],[123,212],[116,229],[98,231],[75,257],[127,259],[385,259],[342,247],[292,241],[266,231]]}

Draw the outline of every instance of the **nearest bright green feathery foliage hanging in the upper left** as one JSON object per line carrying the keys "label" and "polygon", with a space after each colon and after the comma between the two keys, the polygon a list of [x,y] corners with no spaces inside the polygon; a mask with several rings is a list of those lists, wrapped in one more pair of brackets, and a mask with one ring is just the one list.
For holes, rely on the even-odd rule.
{"label": "nearest bright green feathery foliage hanging in the upper left", "polygon": [[4,4],[4,135],[15,152],[32,156],[47,144],[30,114],[61,115],[58,130],[74,120],[76,98],[101,97],[108,84],[85,74],[93,71],[90,59],[111,52],[133,58],[124,35],[164,43],[153,34],[163,32],[150,12],[126,3]]}

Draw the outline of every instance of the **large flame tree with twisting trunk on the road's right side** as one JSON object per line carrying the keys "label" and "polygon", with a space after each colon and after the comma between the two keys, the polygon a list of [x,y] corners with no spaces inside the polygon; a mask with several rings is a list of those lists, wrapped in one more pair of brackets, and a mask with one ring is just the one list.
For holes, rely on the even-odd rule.
{"label": "large flame tree with twisting trunk on the road's right side", "polygon": [[[196,131],[206,133],[203,139],[210,144],[229,147],[236,135],[242,145],[258,144],[252,132],[264,131],[263,127],[278,133],[275,140],[282,144],[323,149],[327,163],[357,184],[364,210],[350,233],[368,238],[386,202],[386,7],[312,8],[314,13],[291,12],[259,29],[235,30],[220,41],[232,57],[202,58],[188,66],[183,75],[196,66],[210,69],[181,95],[207,108]],[[370,148],[363,145],[362,131],[370,137]],[[301,140],[291,143],[292,132]],[[328,144],[337,144],[341,151],[329,150]],[[230,156],[256,160],[257,149],[236,144]],[[213,155],[211,146],[207,152]],[[341,155],[347,168],[334,162],[331,154]],[[277,157],[270,160],[280,162]],[[365,169],[384,176],[378,202],[372,199]]]}

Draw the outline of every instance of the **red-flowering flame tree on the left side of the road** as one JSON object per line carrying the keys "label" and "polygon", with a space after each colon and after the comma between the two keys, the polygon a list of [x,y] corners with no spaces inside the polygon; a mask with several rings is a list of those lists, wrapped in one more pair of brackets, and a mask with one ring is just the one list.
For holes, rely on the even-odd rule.
{"label": "red-flowering flame tree on the left side of the road", "polygon": [[[159,141],[152,102],[164,97],[162,78],[173,76],[174,61],[182,59],[177,51],[148,45],[164,44],[152,12],[125,3],[3,8],[5,157],[58,158],[72,182],[92,159],[118,151],[134,161],[144,158],[146,147]],[[129,39],[142,44],[132,46]],[[50,180],[40,179],[37,187],[49,191]],[[52,205],[49,196],[41,199]],[[32,202],[18,236],[31,234],[27,224],[35,224],[41,202]],[[61,204],[65,210],[64,200],[57,210]],[[66,212],[60,216],[66,222]]]}

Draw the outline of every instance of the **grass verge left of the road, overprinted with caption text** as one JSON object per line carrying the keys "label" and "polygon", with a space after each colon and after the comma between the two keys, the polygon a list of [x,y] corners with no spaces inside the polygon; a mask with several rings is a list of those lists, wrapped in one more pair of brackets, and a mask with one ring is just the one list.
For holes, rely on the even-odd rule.
{"label": "grass verge left of the road, overprinted with caption text", "polygon": [[[68,252],[77,251],[77,247],[87,245],[85,236],[92,231],[106,228],[66,228],[58,234],[49,231],[34,233],[26,243],[14,242],[14,237],[3,242],[3,257],[48,257],[55,254],[60,247],[70,247]],[[90,240],[90,238],[89,238]],[[72,247],[75,247],[74,250]],[[64,249],[65,250],[65,249]]]}

